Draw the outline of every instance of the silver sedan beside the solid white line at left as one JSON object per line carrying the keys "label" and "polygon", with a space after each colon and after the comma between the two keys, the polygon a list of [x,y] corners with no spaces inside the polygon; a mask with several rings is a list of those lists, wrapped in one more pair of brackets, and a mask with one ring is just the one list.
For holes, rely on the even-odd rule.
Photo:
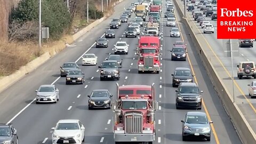
{"label": "silver sedan beside the solid white line at left", "polygon": [[55,85],[41,85],[36,90],[36,103],[39,102],[53,102],[57,103],[60,99],[59,90]]}

